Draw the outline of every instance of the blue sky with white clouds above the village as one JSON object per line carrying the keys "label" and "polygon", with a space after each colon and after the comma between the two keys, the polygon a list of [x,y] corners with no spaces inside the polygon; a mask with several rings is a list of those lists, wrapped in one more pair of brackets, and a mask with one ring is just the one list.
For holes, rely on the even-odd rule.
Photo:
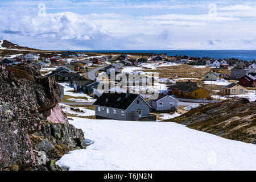
{"label": "blue sky with white clouds above the village", "polygon": [[255,49],[255,1],[1,0],[0,39],[47,50]]}

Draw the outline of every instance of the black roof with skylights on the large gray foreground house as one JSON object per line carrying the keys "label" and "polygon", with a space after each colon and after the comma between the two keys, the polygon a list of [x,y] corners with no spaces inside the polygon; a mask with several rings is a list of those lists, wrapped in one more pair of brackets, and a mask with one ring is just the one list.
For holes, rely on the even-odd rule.
{"label": "black roof with skylights on the large gray foreground house", "polygon": [[126,93],[103,93],[93,105],[126,110],[137,97],[139,94],[130,93],[126,97]]}

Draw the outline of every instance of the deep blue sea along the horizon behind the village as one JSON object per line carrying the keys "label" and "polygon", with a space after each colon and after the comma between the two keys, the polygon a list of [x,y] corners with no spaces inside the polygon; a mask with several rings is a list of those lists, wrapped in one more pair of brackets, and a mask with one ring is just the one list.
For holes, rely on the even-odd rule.
{"label": "deep blue sea along the horizon behind the village", "polygon": [[73,50],[74,52],[97,52],[97,53],[166,53],[168,56],[187,55],[189,57],[210,57],[213,59],[236,58],[240,60],[256,60],[256,50]]}

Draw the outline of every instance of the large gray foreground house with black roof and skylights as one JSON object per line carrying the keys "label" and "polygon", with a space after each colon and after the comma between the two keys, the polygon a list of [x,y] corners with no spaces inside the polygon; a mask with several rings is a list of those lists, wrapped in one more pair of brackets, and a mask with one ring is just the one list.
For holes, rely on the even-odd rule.
{"label": "large gray foreground house with black roof and skylights", "polygon": [[156,121],[151,106],[139,94],[103,93],[93,105],[96,119]]}

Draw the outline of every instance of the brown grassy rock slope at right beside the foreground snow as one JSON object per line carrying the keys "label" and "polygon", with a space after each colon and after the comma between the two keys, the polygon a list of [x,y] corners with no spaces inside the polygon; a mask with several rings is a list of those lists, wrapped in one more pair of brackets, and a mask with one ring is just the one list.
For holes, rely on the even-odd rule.
{"label": "brown grassy rock slope at right beside the foreground snow", "polygon": [[200,106],[166,121],[220,137],[256,144],[256,102],[233,98]]}

